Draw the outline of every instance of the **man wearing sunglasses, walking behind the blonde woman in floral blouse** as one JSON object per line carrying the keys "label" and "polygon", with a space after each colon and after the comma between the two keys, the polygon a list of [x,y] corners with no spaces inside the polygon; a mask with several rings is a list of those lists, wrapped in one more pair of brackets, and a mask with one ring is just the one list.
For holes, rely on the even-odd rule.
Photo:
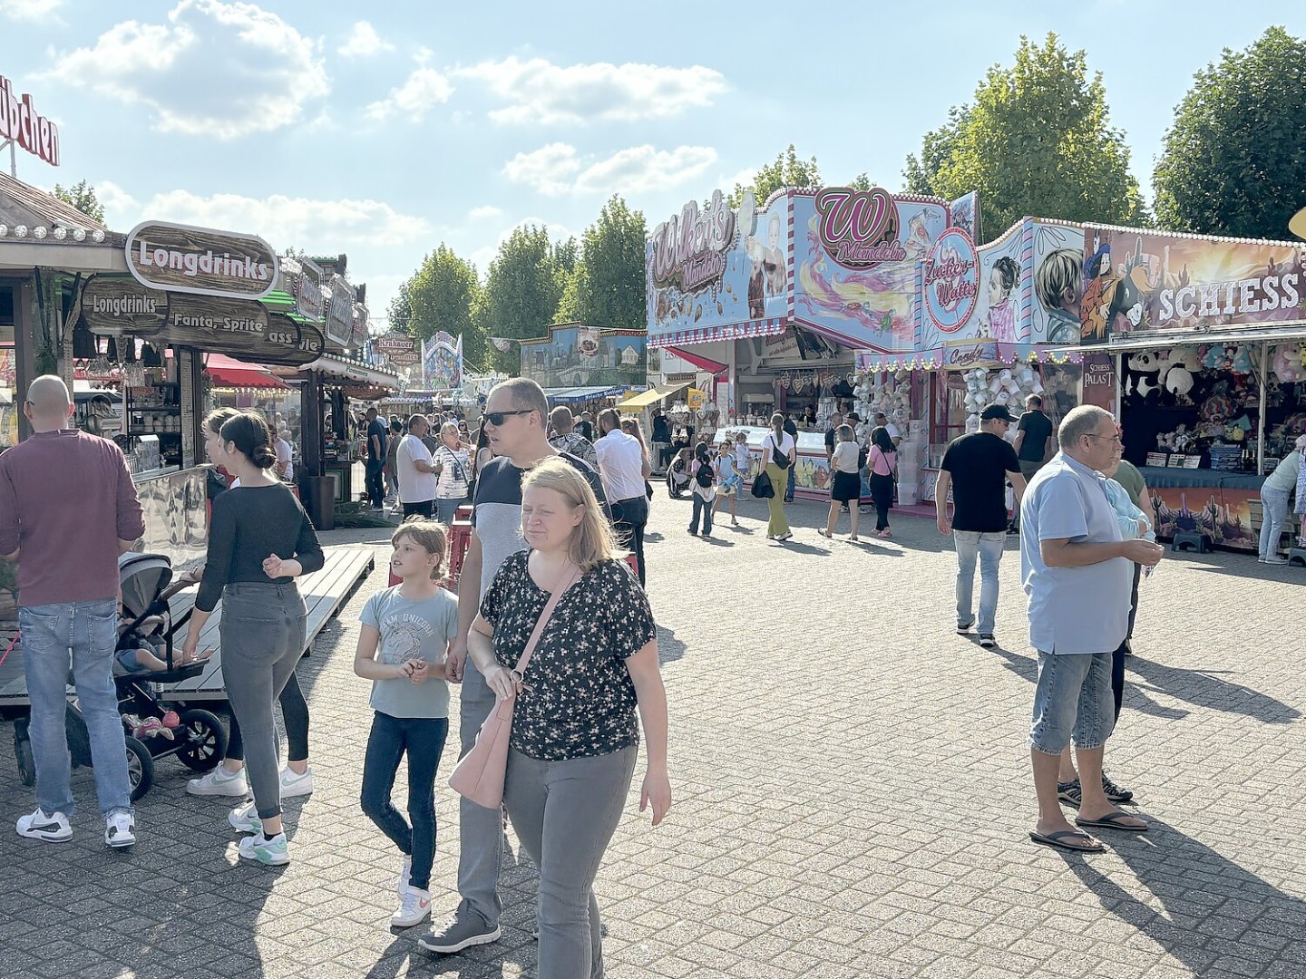
{"label": "man wearing sunglasses, walking behind the blonde woman in floral blouse", "polygon": [[[603,514],[613,514],[603,496],[598,473],[582,459],[549,444],[549,399],[528,377],[495,385],[482,415],[494,458],[477,474],[471,505],[471,539],[458,578],[458,634],[449,644],[445,663],[451,683],[462,684],[460,738],[462,751],[471,751],[481,724],[494,707],[495,696],[475,664],[468,659],[468,632],[481,608],[481,595],[490,587],[504,560],[525,550],[521,535],[521,480],[528,470],[560,456],[585,474]],[[499,868],[503,855],[503,816],[499,809],[458,799],[458,902],[451,919],[436,932],[418,939],[428,952],[452,954],[471,945],[486,945],[500,936]]]}

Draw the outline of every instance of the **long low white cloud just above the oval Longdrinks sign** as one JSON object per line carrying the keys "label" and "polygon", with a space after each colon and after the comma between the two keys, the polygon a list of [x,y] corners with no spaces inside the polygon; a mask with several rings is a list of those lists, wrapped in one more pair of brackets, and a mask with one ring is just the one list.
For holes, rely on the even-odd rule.
{"label": "long low white cloud just above the oval Longdrinks sign", "polygon": [[183,225],[242,231],[264,238],[281,251],[295,248],[338,249],[340,245],[404,245],[421,240],[431,228],[423,218],[401,214],[374,200],[323,201],[307,197],[243,197],[215,193],[208,197],[189,191],[165,191],[138,201],[114,183],[103,181],[95,193],[104,205],[108,226],[125,231],[145,221],[175,221]]}

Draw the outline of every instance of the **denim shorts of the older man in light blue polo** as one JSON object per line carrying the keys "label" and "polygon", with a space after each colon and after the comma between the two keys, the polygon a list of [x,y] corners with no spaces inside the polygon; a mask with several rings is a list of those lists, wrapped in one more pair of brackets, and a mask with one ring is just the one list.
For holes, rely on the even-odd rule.
{"label": "denim shorts of the older man in light blue polo", "polygon": [[1060,754],[1074,739],[1085,751],[1101,748],[1115,727],[1110,653],[1038,654],[1034,719],[1029,744]]}

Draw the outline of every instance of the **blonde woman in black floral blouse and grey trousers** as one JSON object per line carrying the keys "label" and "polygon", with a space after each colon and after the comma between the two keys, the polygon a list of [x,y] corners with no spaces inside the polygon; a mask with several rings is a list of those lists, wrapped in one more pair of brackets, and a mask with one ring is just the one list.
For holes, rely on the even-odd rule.
{"label": "blonde woman in black floral blouse and grey trousers", "polygon": [[585,476],[546,459],[521,495],[529,550],[495,574],[468,655],[500,702],[515,698],[503,801],[539,867],[537,975],[589,979],[603,975],[594,876],[629,791],[640,721],[640,811],[652,804],[657,825],[671,808],[666,692],[648,598]]}

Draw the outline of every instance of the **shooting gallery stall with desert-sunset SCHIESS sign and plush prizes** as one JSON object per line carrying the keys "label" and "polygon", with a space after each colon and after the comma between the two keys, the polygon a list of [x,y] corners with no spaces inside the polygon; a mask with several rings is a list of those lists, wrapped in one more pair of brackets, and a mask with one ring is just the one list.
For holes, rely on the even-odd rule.
{"label": "shooting gallery stall with desert-sunset SCHIESS sign and plush prizes", "polygon": [[1306,244],[1089,225],[1083,248],[1085,399],[1118,412],[1160,534],[1255,551],[1306,432]]}

